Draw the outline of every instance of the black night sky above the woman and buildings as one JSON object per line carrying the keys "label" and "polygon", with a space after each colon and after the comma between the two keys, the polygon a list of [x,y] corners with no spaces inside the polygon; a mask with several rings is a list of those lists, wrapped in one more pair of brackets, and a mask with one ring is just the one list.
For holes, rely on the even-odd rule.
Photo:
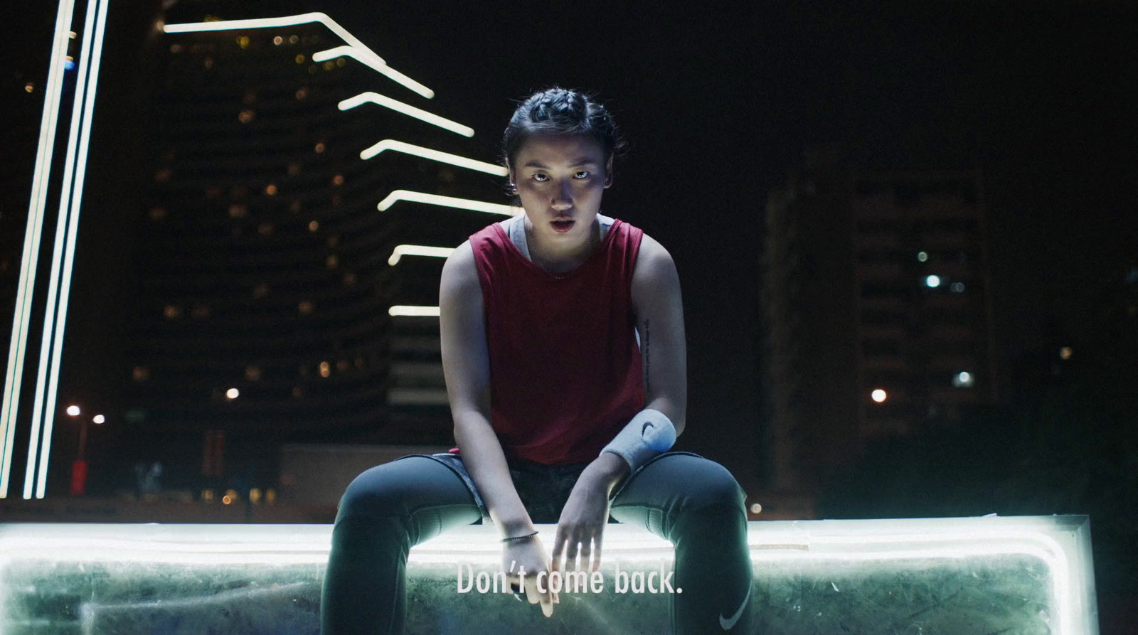
{"label": "black night sky above the woman and buildings", "polygon": [[[20,2],[25,27],[2,43],[13,121],[39,119],[42,98],[23,84],[46,72],[48,5]],[[1094,338],[1096,298],[1138,266],[1130,3],[231,5],[221,17],[328,13],[435,89],[432,110],[478,131],[478,158],[496,157],[513,100],[535,89],[583,88],[609,104],[630,150],[605,212],[677,262],[691,343],[685,437],[729,464],[753,460],[745,444],[723,442],[758,415],[764,205],[805,147],[838,147],[866,167],[980,168],[1004,364],[1052,331]],[[152,7],[118,0],[113,19]],[[102,72],[106,85],[137,76],[122,65]],[[28,134],[34,143],[35,127],[6,131],[9,147],[28,147]],[[8,189],[27,182],[18,172],[31,158],[11,165]]]}

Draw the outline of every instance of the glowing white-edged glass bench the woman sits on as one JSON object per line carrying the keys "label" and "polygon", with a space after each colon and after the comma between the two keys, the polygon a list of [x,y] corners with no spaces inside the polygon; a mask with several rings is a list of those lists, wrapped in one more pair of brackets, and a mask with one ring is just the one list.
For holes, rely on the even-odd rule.
{"label": "glowing white-edged glass bench the woman sits on", "polygon": [[[543,535],[553,534],[543,527]],[[0,633],[319,633],[325,525],[0,525]],[[409,562],[409,633],[666,633],[671,546],[607,528],[601,593],[552,619],[480,593],[493,527],[424,543]],[[762,633],[1098,633],[1087,517],[751,522]],[[460,593],[462,585],[476,585]],[[653,582],[658,579],[653,577]],[[646,586],[646,585],[645,585]],[[646,591],[646,589],[645,589]]]}

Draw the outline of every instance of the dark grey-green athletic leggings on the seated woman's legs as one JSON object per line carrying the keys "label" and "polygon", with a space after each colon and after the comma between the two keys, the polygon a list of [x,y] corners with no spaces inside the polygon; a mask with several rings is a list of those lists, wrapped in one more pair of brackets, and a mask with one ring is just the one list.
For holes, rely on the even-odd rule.
{"label": "dark grey-green athletic leggings on the seated woman's legs", "polygon": [[[673,632],[750,633],[751,559],[744,494],[718,463],[666,454],[633,475],[612,500],[619,522],[675,545]],[[321,599],[322,635],[403,633],[407,551],[481,519],[462,479],[424,456],[372,468],[340,500]]]}

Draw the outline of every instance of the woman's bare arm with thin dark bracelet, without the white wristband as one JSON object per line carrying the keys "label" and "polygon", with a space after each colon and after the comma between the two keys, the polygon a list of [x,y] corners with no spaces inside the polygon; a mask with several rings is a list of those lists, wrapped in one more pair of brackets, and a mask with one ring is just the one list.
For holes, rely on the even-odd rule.
{"label": "woman's bare arm with thin dark bracelet, without the white wristband", "polygon": [[[502,444],[490,424],[483,289],[470,242],[463,242],[443,265],[438,307],[443,373],[462,461],[502,537],[525,536],[534,531],[534,523],[513,486]],[[529,603],[541,603],[546,617],[553,615],[555,594],[549,589],[541,593],[536,584],[537,574],[549,569],[549,556],[541,541],[505,543],[502,569],[514,582],[520,582],[518,574],[525,569],[523,591]]]}

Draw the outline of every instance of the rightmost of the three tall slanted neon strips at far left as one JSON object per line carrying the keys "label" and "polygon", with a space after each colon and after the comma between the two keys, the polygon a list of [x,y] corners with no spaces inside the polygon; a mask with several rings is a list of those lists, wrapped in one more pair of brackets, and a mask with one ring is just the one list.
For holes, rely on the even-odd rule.
{"label": "rightmost of the three tall slanted neon strips at far left", "polygon": [[[92,0],[96,7],[88,8],[88,22],[90,23],[90,14],[94,13],[98,8],[98,15],[94,18],[94,31],[92,35],[92,42],[90,48],[85,51],[85,57],[90,58],[90,64],[83,67],[81,61],[81,71],[79,79],[85,80],[88,82],[86,90],[83,91],[83,114],[80,131],[79,131],[79,152],[75,157],[75,182],[71,187],[71,213],[69,224],[67,232],[64,238],[66,240],[65,254],[64,254],[64,270],[63,278],[59,280],[60,295],[59,295],[59,306],[56,310],[56,327],[55,327],[55,341],[53,348],[51,351],[51,372],[49,376],[48,385],[48,399],[44,404],[44,422],[43,422],[43,445],[40,450],[40,476],[39,483],[35,487],[35,497],[42,498],[48,487],[48,457],[51,454],[51,430],[56,421],[56,399],[58,398],[59,391],[59,361],[63,357],[64,351],[64,336],[66,335],[67,324],[67,303],[71,298],[71,280],[72,270],[75,264],[75,242],[79,239],[79,215],[83,204],[83,185],[86,179],[86,158],[90,150],[91,141],[91,125],[94,117],[94,98],[98,93],[99,86],[99,63],[102,60],[102,38],[106,33],[107,24],[107,7],[110,5],[110,0]],[[90,28],[83,31],[84,34],[92,33]],[[80,92],[76,90],[75,93],[75,105],[79,106]],[[77,108],[76,108],[77,109]],[[72,121],[75,121],[74,118]],[[72,124],[72,131],[74,132],[76,125]],[[68,141],[71,146],[71,141]],[[68,156],[72,154],[71,148],[67,150]],[[68,162],[68,167],[71,163]],[[64,181],[67,184],[67,181]],[[64,190],[65,192],[67,190]],[[64,217],[63,201],[60,201],[60,218]],[[58,242],[58,240],[57,240]],[[55,279],[52,279],[55,282]],[[50,304],[49,304],[50,306]],[[44,335],[47,335],[47,329],[44,329]],[[43,366],[43,361],[40,361],[41,368]]]}

